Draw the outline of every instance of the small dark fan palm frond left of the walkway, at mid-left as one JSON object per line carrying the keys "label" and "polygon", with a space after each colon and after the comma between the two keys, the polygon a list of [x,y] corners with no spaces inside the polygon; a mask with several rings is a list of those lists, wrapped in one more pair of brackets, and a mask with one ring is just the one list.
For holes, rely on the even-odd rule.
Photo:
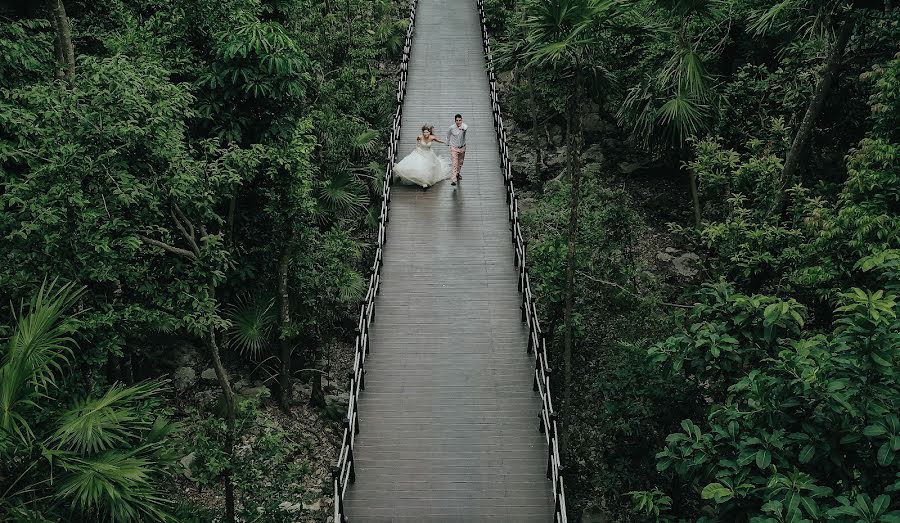
{"label": "small dark fan palm frond left of the walkway, at mid-left", "polygon": [[241,296],[236,303],[229,305],[225,312],[226,318],[231,321],[229,347],[254,360],[258,359],[272,341],[274,306],[275,300],[272,298],[252,299],[247,296]]}

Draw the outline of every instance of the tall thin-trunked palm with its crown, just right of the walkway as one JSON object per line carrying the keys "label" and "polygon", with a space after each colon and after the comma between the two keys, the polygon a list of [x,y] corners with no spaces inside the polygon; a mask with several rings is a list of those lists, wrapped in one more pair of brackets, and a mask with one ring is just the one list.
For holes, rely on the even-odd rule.
{"label": "tall thin-trunked palm with its crown, just right of the walkway", "polygon": [[567,232],[565,281],[565,336],[563,345],[563,420],[560,452],[567,452],[572,391],[572,345],[574,335],[575,247],[578,231],[578,204],[581,191],[581,149],[583,146],[581,103],[589,85],[608,88],[611,75],[598,60],[601,31],[611,27],[617,3],[612,0],[540,0],[531,3],[526,20],[526,56],[530,67],[550,67],[570,82],[566,100],[568,171],[571,179]]}

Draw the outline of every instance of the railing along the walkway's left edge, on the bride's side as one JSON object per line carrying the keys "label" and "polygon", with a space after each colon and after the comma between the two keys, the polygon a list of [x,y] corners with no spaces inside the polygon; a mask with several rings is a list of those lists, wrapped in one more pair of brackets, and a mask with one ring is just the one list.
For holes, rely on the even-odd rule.
{"label": "railing along the walkway's left edge, on the bride's side", "polygon": [[354,343],[353,368],[349,372],[350,401],[347,415],[344,417],[344,432],[337,462],[331,469],[332,486],[334,488],[334,521],[344,523],[347,514],[344,512],[344,494],[347,486],[356,480],[353,450],[356,435],[359,434],[359,394],[366,388],[366,358],[369,355],[369,327],[375,321],[375,296],[381,287],[381,265],[384,260],[384,244],[388,211],[391,202],[391,185],[394,177],[394,163],[397,157],[400,140],[400,119],[403,114],[403,98],[406,96],[406,82],[409,76],[409,52],[412,49],[412,35],[416,22],[416,6],[418,0],[411,0],[409,8],[409,27],[406,30],[406,41],[403,44],[403,55],[400,59],[400,78],[397,80],[397,108],[391,123],[391,135],[388,140],[387,168],[381,191],[381,215],[378,220],[378,236],[375,245],[375,260],[369,274],[369,287],[362,300],[359,320],[356,324],[356,341]]}

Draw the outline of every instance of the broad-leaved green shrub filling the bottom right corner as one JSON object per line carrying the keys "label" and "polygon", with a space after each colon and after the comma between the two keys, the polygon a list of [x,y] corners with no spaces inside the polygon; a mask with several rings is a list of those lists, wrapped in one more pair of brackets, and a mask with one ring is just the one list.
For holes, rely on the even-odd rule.
{"label": "broad-leaved green shrub filling the bottom right corner", "polygon": [[[725,285],[700,298],[689,330],[650,354],[666,372],[698,383],[711,406],[701,425],[684,420],[669,435],[658,468],[702,489],[715,521],[900,515],[885,494],[900,450],[896,296],[853,289],[833,330],[814,335],[800,330],[789,303]],[[748,306],[753,301],[758,306]],[[709,331],[734,343],[722,351]],[[857,500],[853,509],[848,497]]]}

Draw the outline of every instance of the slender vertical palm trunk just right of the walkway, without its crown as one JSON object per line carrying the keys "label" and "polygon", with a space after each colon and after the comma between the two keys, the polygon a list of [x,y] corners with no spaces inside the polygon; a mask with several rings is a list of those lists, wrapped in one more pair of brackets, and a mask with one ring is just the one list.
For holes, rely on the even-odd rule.
{"label": "slender vertical palm trunk just right of the walkway, without its crown", "polygon": [[581,192],[581,113],[579,104],[581,95],[581,74],[576,70],[573,92],[569,99],[569,176],[572,180],[571,195],[569,199],[569,227],[566,252],[566,283],[565,283],[565,311],[563,321],[565,334],[563,338],[563,401],[562,401],[562,432],[560,434],[559,448],[564,461],[568,461],[569,434],[571,433],[572,420],[572,348],[574,345],[575,325],[573,320],[573,308],[575,304],[575,247],[578,235],[578,204]]}

